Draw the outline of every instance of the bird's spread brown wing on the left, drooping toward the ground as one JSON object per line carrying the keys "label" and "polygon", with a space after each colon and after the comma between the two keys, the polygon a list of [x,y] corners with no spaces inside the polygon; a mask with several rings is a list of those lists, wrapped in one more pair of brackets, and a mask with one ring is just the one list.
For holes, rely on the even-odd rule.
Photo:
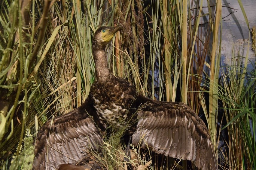
{"label": "bird's spread brown wing on the left, drooping toward the ground", "polygon": [[59,165],[78,163],[86,157],[88,148],[97,149],[102,137],[88,114],[94,114],[91,97],[77,109],[48,120],[35,141],[33,169],[58,169]]}

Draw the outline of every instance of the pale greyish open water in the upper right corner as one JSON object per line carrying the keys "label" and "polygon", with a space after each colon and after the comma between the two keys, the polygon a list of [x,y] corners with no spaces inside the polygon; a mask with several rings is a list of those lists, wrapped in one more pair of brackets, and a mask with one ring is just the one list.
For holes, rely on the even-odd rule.
{"label": "pale greyish open water in the upper right corner", "polygon": [[[256,1],[242,0],[242,4],[248,18],[249,26],[252,28],[256,25]],[[251,43],[251,36],[249,37],[249,29],[245,22],[242,10],[236,0],[223,0],[222,5],[222,18],[225,17],[222,19],[222,60],[227,65],[230,65],[232,52],[239,52],[239,56],[242,57],[245,57],[248,54],[250,62],[248,62],[247,69],[248,71],[251,71],[255,66],[255,55],[251,49],[251,44],[249,45],[248,50],[248,42],[250,41]]]}

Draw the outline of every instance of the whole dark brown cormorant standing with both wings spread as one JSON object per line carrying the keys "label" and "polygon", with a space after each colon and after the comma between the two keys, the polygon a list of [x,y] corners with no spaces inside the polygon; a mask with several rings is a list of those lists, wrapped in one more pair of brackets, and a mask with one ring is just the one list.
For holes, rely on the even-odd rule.
{"label": "whole dark brown cormorant standing with both wings spread", "polygon": [[[76,109],[77,111],[56,118],[57,120],[54,119],[53,132],[49,129],[50,122],[41,128],[38,136],[42,135],[43,137],[39,136],[37,140],[39,145],[37,142],[35,144],[36,163],[34,163],[34,167],[38,167],[40,163],[46,161],[44,155],[47,151],[47,140],[52,139],[50,140],[51,143],[55,143],[54,140],[60,141],[62,145],[63,140],[65,140],[64,143],[68,144],[63,145],[64,147],[72,145],[73,142],[67,142],[66,139],[69,138],[69,135],[63,135],[66,131],[70,131],[69,128],[75,127],[79,131],[81,127],[90,127],[88,128],[90,130],[79,133],[80,138],[89,141],[89,143],[91,141],[92,144],[101,144],[102,139],[99,132],[91,124],[91,118],[88,117],[88,114],[92,114],[94,121],[103,129],[108,126],[118,129],[133,117],[134,121],[127,130],[128,134],[132,136],[134,145],[139,145],[139,141],[142,139],[142,148],[148,146],[152,151],[159,154],[192,160],[198,168],[203,170],[217,170],[209,132],[203,120],[191,108],[181,102],[160,102],[148,99],[138,94],[135,87],[128,81],[111,74],[107,64],[105,47],[111,41],[114,33],[121,28],[122,26],[100,27],[95,32],[92,51],[96,67],[96,80],[91,87],[90,95],[86,102]],[[74,118],[75,114],[82,115],[76,115],[77,118]],[[73,122],[68,122],[69,119]],[[78,137],[78,135],[70,135],[73,139]],[[42,140],[41,143],[40,140]],[[88,142],[86,143],[88,144]],[[96,145],[93,147],[96,148]],[[56,154],[56,152],[52,152]],[[36,161],[42,158],[43,161]],[[67,161],[59,163],[61,162],[60,159],[63,159],[61,155],[59,155],[58,161],[55,159],[56,164],[74,163]],[[54,158],[49,161],[54,161]]]}

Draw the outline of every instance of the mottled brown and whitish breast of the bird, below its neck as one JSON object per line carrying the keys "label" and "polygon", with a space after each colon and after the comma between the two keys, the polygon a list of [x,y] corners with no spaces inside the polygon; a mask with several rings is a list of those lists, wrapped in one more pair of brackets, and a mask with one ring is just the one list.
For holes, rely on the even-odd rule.
{"label": "mottled brown and whitish breast of the bird, below its neck", "polygon": [[104,126],[125,124],[136,92],[133,85],[113,76],[106,82],[96,80],[92,88],[93,104]]}

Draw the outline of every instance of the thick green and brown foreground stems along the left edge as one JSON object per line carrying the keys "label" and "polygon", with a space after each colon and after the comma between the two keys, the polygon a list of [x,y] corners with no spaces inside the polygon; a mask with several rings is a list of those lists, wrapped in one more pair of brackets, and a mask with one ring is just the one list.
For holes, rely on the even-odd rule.
{"label": "thick green and brown foreground stems along the left edge", "polygon": [[[46,12],[42,16],[47,13],[49,4],[50,2],[45,3]],[[35,8],[32,8],[32,11],[35,12]],[[47,20],[43,17],[41,22],[45,24]],[[6,160],[12,154],[12,163],[17,167],[24,153],[21,151],[23,143],[27,144],[23,147],[25,152],[32,146],[32,142],[26,142],[30,136],[25,137],[24,141],[23,138],[27,128],[26,123],[31,118],[34,119],[34,116],[29,115],[29,106],[34,94],[39,90],[40,83],[36,82],[35,72],[30,66],[35,62],[41,41],[44,39],[45,29],[40,27],[38,39],[35,40],[35,31],[31,32],[29,29],[29,1],[23,3],[4,1],[0,23],[4,30],[1,31],[0,40],[0,91],[2,94],[0,153],[1,160]],[[31,22],[31,27],[35,30],[35,22]],[[33,48],[34,43],[37,48]],[[17,149],[13,150],[14,146]],[[30,154],[32,153],[30,151]],[[8,161],[2,162],[1,167],[5,168],[7,163]]]}

